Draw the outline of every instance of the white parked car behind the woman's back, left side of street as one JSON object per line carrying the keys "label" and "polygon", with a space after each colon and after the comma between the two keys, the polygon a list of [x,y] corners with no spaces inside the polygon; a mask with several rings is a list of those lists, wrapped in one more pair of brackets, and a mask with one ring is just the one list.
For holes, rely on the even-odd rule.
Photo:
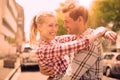
{"label": "white parked car behind the woman's back, left side of street", "polygon": [[24,47],[22,53],[20,54],[21,71],[24,71],[24,69],[28,66],[36,65],[38,65],[38,60],[34,50],[30,47]]}

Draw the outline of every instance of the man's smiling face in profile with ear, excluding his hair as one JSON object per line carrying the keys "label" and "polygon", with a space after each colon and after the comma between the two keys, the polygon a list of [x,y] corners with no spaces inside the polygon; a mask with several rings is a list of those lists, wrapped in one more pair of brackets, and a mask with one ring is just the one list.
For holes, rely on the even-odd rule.
{"label": "man's smiling face in profile with ear, excluding his hair", "polygon": [[74,20],[69,16],[69,12],[64,13],[64,28],[68,31],[69,34],[79,35],[85,30],[83,17],[78,17]]}

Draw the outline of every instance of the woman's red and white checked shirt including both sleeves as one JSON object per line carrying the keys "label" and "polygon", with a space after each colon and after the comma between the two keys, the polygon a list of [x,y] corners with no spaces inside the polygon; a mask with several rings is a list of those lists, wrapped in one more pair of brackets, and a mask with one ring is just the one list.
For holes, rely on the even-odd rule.
{"label": "woman's red and white checked shirt including both sleeves", "polygon": [[89,39],[87,37],[81,36],[79,39],[75,39],[76,37],[71,35],[56,37],[51,43],[42,41],[37,48],[39,65],[53,67],[53,71],[56,74],[65,73],[68,67],[65,55],[83,49],[89,44]]}

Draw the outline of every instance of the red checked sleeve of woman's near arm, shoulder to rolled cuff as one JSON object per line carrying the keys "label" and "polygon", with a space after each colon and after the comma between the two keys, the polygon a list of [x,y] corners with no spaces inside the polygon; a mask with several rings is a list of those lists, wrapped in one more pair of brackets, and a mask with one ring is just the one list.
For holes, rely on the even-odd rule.
{"label": "red checked sleeve of woman's near arm, shoulder to rolled cuff", "polygon": [[68,53],[76,52],[80,49],[87,47],[89,44],[89,39],[86,37],[81,37],[78,40],[71,42],[51,44],[51,45],[40,45],[38,47],[37,54],[39,57],[43,58],[53,58],[58,56],[64,56]]}

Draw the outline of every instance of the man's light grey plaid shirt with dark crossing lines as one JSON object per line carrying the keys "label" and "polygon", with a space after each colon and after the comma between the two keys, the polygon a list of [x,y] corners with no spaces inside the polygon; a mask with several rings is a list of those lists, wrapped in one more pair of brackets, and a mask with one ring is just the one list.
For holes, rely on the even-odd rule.
{"label": "man's light grey plaid shirt with dark crossing lines", "polygon": [[[87,31],[84,34],[90,34],[92,30]],[[71,74],[66,74],[61,80],[102,80],[102,68],[102,47],[100,41],[96,39],[88,48],[74,54]]]}

